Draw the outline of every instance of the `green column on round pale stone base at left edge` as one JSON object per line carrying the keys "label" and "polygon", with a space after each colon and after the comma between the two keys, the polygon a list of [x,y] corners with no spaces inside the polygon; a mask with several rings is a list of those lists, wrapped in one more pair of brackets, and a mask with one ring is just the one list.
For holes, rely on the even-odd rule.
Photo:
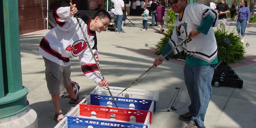
{"label": "green column on round pale stone base at left edge", "polygon": [[18,0],[0,0],[0,119],[26,110],[28,89],[22,86]]}

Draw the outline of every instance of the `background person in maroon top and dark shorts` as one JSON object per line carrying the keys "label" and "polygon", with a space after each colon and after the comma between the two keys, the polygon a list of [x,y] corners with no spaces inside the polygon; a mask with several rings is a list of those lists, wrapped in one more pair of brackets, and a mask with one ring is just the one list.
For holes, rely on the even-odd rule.
{"label": "background person in maroon top and dark shorts", "polygon": [[157,26],[160,28],[160,31],[158,31],[157,33],[160,33],[162,34],[164,32],[164,29],[163,29],[163,17],[164,17],[164,6],[162,5],[163,4],[163,1],[160,1],[159,2],[159,6],[157,7]]}

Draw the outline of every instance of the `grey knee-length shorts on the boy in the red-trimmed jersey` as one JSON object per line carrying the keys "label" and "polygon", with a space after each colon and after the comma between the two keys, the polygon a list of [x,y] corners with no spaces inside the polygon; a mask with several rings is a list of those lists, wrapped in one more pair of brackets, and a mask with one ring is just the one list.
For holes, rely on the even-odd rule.
{"label": "grey knee-length shorts on the boy in the red-trimmed jersey", "polygon": [[71,86],[70,65],[64,67],[44,58],[44,66],[49,93],[52,95],[64,93],[65,87]]}

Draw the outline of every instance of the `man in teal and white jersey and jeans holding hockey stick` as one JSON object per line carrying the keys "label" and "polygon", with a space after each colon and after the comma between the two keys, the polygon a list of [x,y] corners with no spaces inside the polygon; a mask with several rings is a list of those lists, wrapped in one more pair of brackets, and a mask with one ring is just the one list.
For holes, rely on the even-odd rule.
{"label": "man in teal and white jersey and jeans holding hockey stick", "polygon": [[[218,13],[200,3],[188,5],[186,0],[171,0],[169,4],[179,15],[174,24],[173,35],[163,52],[155,59],[154,65],[162,64],[161,58],[190,35],[189,40],[171,54],[178,54],[183,50],[187,53],[184,80],[191,105],[189,112],[180,115],[179,119],[191,120],[186,128],[205,128],[204,116],[212,95],[214,67],[218,63],[217,43],[212,30],[212,27],[218,26]],[[167,60],[169,56],[166,57]]]}

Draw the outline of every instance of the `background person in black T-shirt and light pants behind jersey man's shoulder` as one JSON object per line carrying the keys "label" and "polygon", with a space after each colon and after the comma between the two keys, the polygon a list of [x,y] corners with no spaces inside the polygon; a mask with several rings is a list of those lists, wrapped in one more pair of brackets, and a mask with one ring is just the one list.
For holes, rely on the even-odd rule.
{"label": "background person in black T-shirt and light pants behind jersey man's shoulder", "polygon": [[218,12],[218,20],[219,26],[218,29],[221,29],[222,32],[226,32],[226,24],[227,24],[227,13],[229,13],[229,7],[224,0],[220,0],[220,3],[217,4],[216,10]]}

